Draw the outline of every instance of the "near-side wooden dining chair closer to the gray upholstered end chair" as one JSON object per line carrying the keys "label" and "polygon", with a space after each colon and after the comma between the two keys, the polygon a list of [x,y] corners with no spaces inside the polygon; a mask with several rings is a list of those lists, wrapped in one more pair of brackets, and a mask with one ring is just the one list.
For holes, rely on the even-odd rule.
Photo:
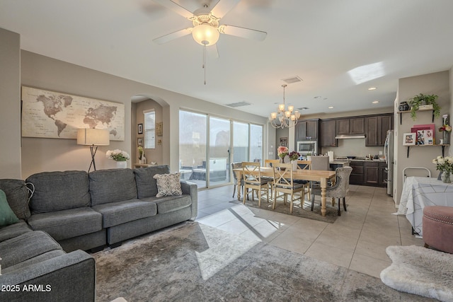
{"label": "near-side wooden dining chair closer to the gray upholstered end chair", "polygon": [[[277,199],[283,198],[283,203],[286,204],[287,196],[290,195],[289,213],[292,214],[292,208],[295,201],[300,200],[301,207],[304,202],[304,185],[302,183],[295,183],[292,163],[275,163],[273,165],[274,173],[274,202],[272,209],[275,209]],[[283,193],[279,195],[278,193]],[[299,193],[299,198],[294,198],[294,194]]]}

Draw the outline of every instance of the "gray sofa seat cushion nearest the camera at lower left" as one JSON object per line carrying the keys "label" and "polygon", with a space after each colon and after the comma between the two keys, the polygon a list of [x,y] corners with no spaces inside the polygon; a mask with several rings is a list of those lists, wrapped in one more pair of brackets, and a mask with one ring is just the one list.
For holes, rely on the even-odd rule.
{"label": "gray sofa seat cushion nearest the camera at lower left", "polygon": [[0,243],[1,267],[11,267],[33,257],[62,250],[59,244],[42,231],[28,232]]}

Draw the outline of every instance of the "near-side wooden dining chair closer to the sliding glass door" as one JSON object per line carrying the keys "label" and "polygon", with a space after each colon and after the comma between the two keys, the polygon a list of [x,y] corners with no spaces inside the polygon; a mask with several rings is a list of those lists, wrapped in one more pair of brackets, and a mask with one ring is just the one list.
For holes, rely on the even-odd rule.
{"label": "near-side wooden dining chair closer to the sliding glass door", "polygon": [[253,190],[258,193],[258,207],[261,206],[261,193],[264,191],[266,197],[269,200],[269,181],[261,177],[260,163],[253,161],[242,162],[242,179],[243,179],[243,204],[246,204],[246,195],[248,195],[248,189],[252,190],[252,201]]}

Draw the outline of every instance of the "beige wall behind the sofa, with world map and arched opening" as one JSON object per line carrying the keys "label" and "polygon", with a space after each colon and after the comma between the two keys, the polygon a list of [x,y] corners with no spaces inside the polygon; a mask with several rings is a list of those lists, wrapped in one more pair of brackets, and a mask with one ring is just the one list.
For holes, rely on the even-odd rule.
{"label": "beige wall behind the sofa, with world map and arched opening", "polygon": [[[133,95],[147,96],[162,106],[164,136],[162,137],[161,163],[170,165],[171,170],[178,169],[180,108],[207,112],[222,117],[234,117],[236,120],[263,124],[265,129],[268,129],[265,117],[250,115],[187,95],[122,79],[32,52],[22,51],[21,60],[22,85],[125,104],[125,141],[111,141],[110,146],[99,147],[96,154],[96,168],[98,169],[115,168],[115,162],[105,158],[105,151],[107,150],[122,149],[130,154],[135,153],[137,120],[132,117],[131,98]],[[18,85],[17,89],[19,88]],[[14,103],[15,100],[11,100],[11,102]],[[18,99],[16,99],[16,102],[18,102]],[[16,122],[13,127],[18,129],[20,123]],[[20,134],[18,136],[20,137]],[[132,138],[134,139],[133,142]],[[22,178],[27,178],[29,175],[41,171],[88,170],[88,165],[91,162],[88,148],[77,145],[75,139],[24,137],[22,144]],[[132,151],[132,149],[134,150]],[[128,164],[131,166],[131,161],[128,161]]]}

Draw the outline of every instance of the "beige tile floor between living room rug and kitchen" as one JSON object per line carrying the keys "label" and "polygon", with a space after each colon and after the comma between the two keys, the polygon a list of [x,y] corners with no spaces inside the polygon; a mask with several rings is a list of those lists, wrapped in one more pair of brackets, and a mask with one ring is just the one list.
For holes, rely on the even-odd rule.
{"label": "beige tile floor between living room rug and kitchen", "polygon": [[385,188],[350,185],[348,211],[335,223],[248,208],[231,203],[232,194],[232,185],[200,190],[197,221],[378,278],[391,264],[387,246],[423,245],[405,216],[391,214]]}

